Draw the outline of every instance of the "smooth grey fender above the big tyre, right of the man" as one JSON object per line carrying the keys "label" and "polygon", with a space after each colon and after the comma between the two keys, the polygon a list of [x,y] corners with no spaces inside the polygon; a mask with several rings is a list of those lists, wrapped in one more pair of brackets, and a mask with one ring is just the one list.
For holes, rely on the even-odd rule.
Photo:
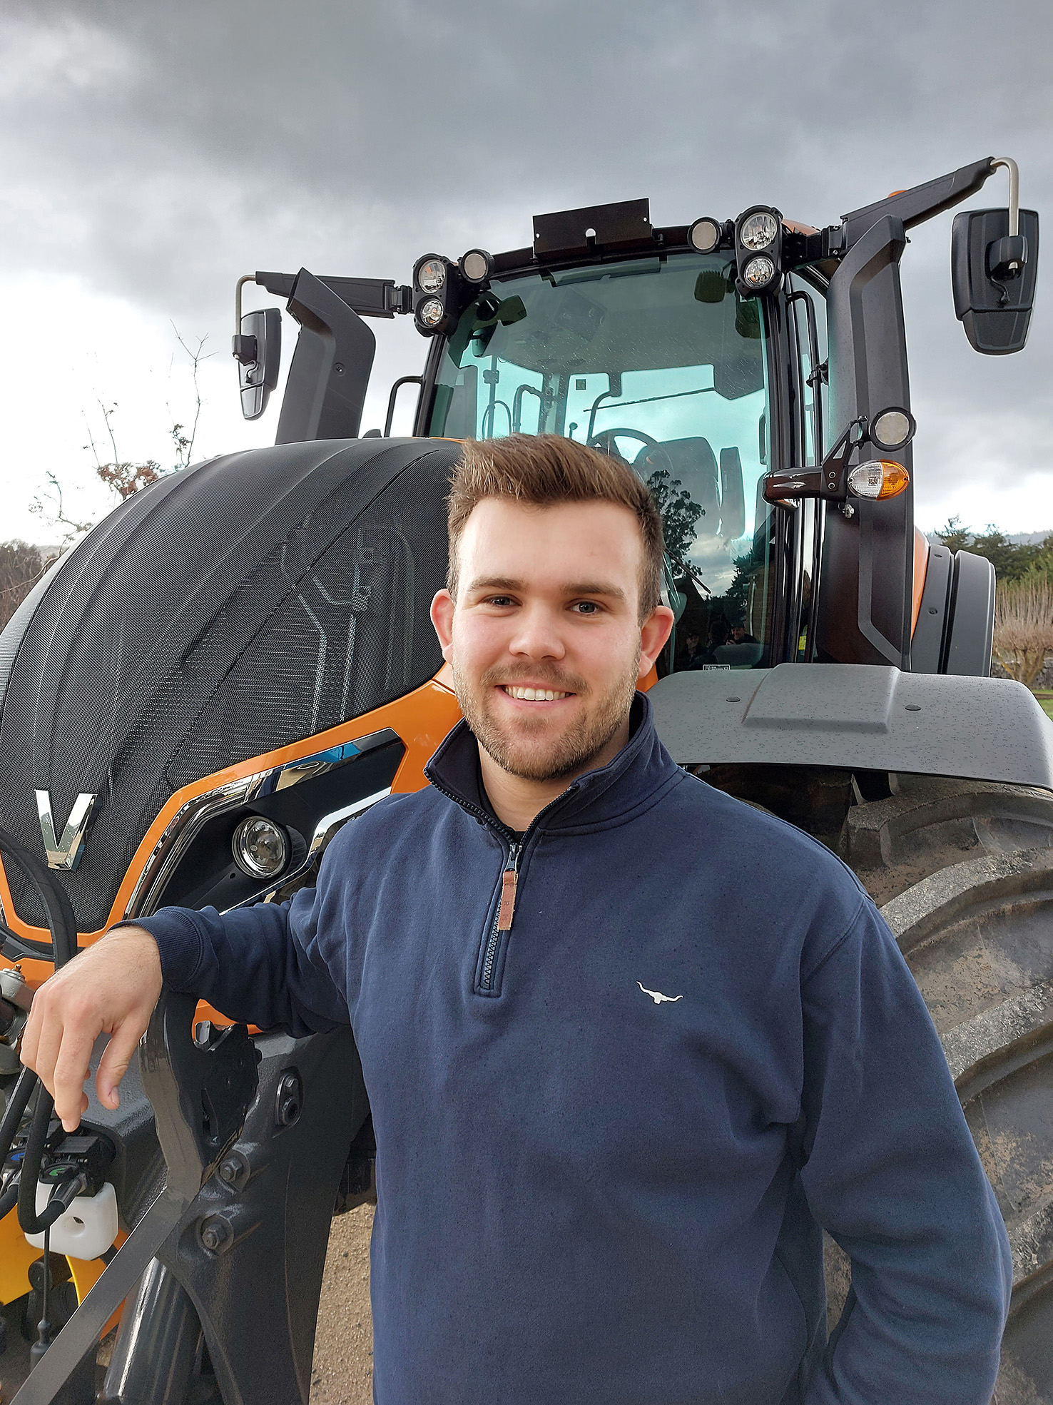
{"label": "smooth grey fender above the big tyre, right of the man", "polygon": [[1008,679],[781,663],[671,673],[649,695],[681,766],[830,766],[1053,791],[1053,722]]}

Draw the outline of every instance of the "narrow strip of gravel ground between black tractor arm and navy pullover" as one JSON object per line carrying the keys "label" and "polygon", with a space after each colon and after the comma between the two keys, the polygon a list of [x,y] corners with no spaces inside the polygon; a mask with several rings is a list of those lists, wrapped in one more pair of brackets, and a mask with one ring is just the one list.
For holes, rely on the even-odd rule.
{"label": "narrow strip of gravel ground between black tractor arm and navy pullover", "polygon": [[373,1207],[333,1221],[314,1335],[312,1405],[372,1405],[373,1318],[369,1311],[369,1235]]}

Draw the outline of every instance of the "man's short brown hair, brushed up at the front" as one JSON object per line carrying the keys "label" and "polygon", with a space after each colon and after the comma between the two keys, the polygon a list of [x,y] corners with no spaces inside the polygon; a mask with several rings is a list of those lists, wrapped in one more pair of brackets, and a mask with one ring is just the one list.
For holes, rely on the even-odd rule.
{"label": "man's short brown hair, brushed up at the front", "polygon": [[553,507],[556,503],[618,503],[636,514],[643,541],[640,620],[661,604],[661,517],[650,489],[621,458],[611,458],[560,434],[508,434],[466,440],[446,499],[449,569],[456,600],[461,534],[484,497]]}

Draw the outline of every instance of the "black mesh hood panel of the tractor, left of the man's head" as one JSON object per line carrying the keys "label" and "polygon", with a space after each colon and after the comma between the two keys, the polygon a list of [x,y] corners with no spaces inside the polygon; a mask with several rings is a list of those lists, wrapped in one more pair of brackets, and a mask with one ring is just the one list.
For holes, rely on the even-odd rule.
{"label": "black mesh hood panel of the tractor, left of the man's head", "polygon": [[[437,672],[427,611],[456,454],[365,440],[213,459],[129,499],[72,554],[7,680],[0,815],[42,856],[34,790],[59,833],[80,791],[98,797],[62,874],[81,932],[107,920],[173,790]],[[17,882],[14,901],[42,923]]]}

